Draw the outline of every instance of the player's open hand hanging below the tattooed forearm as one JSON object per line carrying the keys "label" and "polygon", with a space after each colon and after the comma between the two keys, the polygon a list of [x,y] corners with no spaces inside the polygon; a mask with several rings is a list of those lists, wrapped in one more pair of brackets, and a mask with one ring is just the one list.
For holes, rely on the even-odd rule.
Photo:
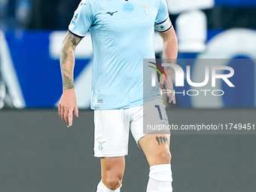
{"label": "player's open hand hanging below the tattooed forearm", "polygon": [[75,116],[78,117],[78,105],[75,96],[75,89],[64,90],[59,100],[58,105],[59,117],[68,123],[68,126],[72,126],[73,123],[73,111]]}

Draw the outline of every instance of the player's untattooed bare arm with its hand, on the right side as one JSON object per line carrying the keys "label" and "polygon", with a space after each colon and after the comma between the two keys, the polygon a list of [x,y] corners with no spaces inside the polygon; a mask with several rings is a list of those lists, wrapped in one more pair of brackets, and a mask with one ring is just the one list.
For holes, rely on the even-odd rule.
{"label": "player's untattooed bare arm with its hand, on the right side", "polygon": [[[178,40],[175,34],[173,26],[166,32],[159,32],[160,36],[163,38],[163,59],[166,59],[168,62],[175,63],[178,56]],[[166,67],[165,72],[167,79],[163,75],[163,79],[160,78],[160,88],[165,85],[167,90],[171,90],[173,93],[173,84],[172,84],[172,68]],[[175,104],[175,96],[172,93],[168,93],[169,103]]]}

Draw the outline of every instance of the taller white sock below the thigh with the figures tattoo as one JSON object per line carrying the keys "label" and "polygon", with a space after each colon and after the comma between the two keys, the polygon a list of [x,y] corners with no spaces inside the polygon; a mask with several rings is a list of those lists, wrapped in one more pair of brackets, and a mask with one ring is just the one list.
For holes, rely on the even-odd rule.
{"label": "taller white sock below the thigh with the figures tattoo", "polygon": [[147,192],[172,192],[171,164],[151,166]]}

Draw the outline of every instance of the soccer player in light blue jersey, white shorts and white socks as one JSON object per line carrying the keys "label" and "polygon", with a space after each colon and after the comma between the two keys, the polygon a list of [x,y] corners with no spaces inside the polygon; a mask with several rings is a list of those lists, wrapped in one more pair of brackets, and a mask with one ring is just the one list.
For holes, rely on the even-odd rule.
{"label": "soccer player in light blue jersey, white shorts and white socks", "polygon": [[[97,192],[120,191],[129,131],[150,166],[147,192],[172,191],[170,135],[143,132],[143,119],[156,117],[157,122],[168,123],[160,87],[165,84],[167,90],[173,90],[170,69],[165,70],[167,78],[161,78],[155,87],[143,78],[154,71],[143,66],[143,59],[155,57],[154,29],[163,38],[163,58],[175,61],[177,38],[165,0],[82,0],[62,43],[59,116],[72,126],[73,111],[78,117],[73,78],[75,47],[90,30],[94,56],[94,155],[101,157],[102,167]],[[150,86],[143,92],[145,84]],[[175,97],[168,96],[169,102],[175,103]],[[149,110],[143,113],[145,105]]]}

